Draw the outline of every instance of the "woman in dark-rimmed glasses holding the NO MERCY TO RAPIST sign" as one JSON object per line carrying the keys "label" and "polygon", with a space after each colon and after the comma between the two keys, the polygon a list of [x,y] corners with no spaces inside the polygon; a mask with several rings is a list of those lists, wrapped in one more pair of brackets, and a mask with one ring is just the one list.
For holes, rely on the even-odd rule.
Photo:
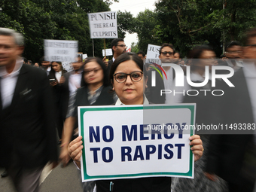
{"label": "woman in dark-rimmed glasses holding the NO MERCY TO RAPIST sign", "polygon": [[[112,90],[118,96],[115,105],[148,105],[144,95],[147,83],[147,72],[143,70],[143,61],[135,53],[123,53],[111,66],[110,79]],[[81,167],[82,137],[79,136],[69,144],[69,155]],[[203,155],[203,145],[200,136],[191,136],[190,145],[194,160]],[[114,185],[113,185],[114,184]],[[113,187],[114,186],[114,190]],[[111,188],[110,188],[111,187]],[[148,177],[96,181],[97,192],[101,191],[171,191],[171,178]]]}

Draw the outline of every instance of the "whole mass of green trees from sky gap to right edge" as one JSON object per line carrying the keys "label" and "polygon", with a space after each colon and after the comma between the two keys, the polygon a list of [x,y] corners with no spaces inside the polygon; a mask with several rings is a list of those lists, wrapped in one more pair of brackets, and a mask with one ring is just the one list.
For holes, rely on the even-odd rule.
{"label": "whole mass of green trees from sky gap to right edge", "polygon": [[197,44],[210,44],[220,55],[222,41],[241,41],[245,30],[255,26],[254,0],[160,0],[155,5],[158,36],[183,56]]}

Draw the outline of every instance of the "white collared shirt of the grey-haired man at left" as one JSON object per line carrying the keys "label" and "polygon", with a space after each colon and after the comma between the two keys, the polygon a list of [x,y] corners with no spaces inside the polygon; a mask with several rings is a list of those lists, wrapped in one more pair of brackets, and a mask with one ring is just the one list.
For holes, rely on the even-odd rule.
{"label": "white collared shirt of the grey-haired man at left", "polygon": [[7,108],[9,105],[11,105],[18,75],[20,74],[20,69],[22,66],[23,59],[19,58],[16,61],[14,71],[12,71],[10,74],[6,72],[5,66],[0,67],[2,108]]}

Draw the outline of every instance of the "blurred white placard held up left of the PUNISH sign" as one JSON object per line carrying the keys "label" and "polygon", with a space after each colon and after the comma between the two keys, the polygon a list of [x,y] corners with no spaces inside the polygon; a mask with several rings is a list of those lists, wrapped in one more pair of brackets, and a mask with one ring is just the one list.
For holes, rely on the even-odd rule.
{"label": "blurred white placard held up left of the PUNISH sign", "polygon": [[44,39],[44,56],[47,61],[75,62],[78,41]]}

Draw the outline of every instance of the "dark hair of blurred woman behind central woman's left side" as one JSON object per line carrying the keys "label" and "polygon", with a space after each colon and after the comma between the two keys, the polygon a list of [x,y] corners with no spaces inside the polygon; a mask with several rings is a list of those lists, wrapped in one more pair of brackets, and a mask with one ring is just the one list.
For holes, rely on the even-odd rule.
{"label": "dark hair of blurred woman behind central woman's left side", "polygon": [[[99,66],[102,68],[103,70],[103,85],[104,86],[108,86],[108,72],[107,72],[107,68],[104,64],[104,62],[102,61],[102,59],[99,59],[98,57],[87,57],[87,59],[85,59],[84,61],[84,65],[86,66],[88,62],[97,62],[99,64]],[[84,81],[84,72],[82,73],[83,78],[82,78],[82,85],[87,85],[87,82]]]}

